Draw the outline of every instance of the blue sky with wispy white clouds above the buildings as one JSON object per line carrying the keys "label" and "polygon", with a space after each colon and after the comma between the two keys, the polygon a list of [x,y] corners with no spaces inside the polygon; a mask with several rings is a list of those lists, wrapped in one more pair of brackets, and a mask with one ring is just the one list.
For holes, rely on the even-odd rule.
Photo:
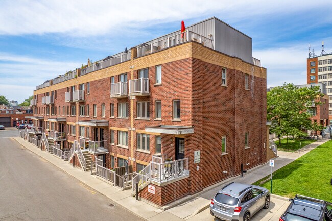
{"label": "blue sky with wispy white clouds above the buildings", "polygon": [[217,17],[252,38],[267,87],[306,83],[309,45],[332,52],[330,1],[0,0],[0,95],[19,103],[37,85],[92,61]]}

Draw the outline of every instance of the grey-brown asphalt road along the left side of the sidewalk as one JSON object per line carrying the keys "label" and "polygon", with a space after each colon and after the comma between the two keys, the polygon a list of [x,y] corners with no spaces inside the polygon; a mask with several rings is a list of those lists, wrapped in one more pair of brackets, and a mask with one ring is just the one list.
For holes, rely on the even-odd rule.
{"label": "grey-brown asphalt road along the left side of the sidewalk", "polygon": [[0,138],[1,221],[141,220],[112,204],[14,139]]}

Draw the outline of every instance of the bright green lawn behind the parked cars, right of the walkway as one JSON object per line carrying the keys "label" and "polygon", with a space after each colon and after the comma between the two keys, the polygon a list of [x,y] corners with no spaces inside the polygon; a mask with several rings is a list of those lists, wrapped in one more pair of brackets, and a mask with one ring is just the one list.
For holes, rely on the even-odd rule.
{"label": "bright green lawn behind the parked cars, right of the walkway", "polygon": [[[289,198],[301,194],[332,202],[331,162],[332,140],[275,171],[272,193]],[[254,185],[270,189],[269,177],[255,182]]]}

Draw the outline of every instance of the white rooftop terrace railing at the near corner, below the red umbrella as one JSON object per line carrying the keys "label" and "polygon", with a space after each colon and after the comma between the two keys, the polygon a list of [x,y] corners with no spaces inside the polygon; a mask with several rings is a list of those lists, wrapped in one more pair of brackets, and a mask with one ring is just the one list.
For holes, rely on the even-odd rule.
{"label": "white rooftop terrace railing at the near corner, below the red umbrella", "polygon": [[192,31],[185,31],[173,36],[166,36],[164,39],[146,43],[146,45],[137,48],[137,57],[144,56],[153,52],[158,52],[164,48],[181,44],[187,41],[196,41],[206,47],[213,49],[212,39],[204,37]]}

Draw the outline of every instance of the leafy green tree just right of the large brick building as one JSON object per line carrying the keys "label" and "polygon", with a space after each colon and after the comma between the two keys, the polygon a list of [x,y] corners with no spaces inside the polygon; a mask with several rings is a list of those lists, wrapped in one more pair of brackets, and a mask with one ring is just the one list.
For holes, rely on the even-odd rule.
{"label": "leafy green tree just right of the large brick building", "polygon": [[272,88],[267,93],[267,120],[272,121],[271,131],[279,137],[283,135],[301,136],[305,130],[316,130],[319,126],[312,123],[313,108],[321,105],[323,96],[319,86],[298,88],[293,84]]}

